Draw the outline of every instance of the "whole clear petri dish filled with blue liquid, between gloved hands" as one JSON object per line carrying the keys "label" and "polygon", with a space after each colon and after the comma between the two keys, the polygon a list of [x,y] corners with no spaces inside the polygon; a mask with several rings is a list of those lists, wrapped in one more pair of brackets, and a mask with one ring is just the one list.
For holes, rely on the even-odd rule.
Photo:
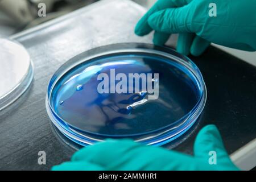
{"label": "whole clear petri dish filled with blue liquid, between gloved hands", "polygon": [[188,57],[120,43],[63,64],[49,81],[46,109],[57,129],[82,146],[106,138],[160,146],[196,122],[206,99],[203,76]]}

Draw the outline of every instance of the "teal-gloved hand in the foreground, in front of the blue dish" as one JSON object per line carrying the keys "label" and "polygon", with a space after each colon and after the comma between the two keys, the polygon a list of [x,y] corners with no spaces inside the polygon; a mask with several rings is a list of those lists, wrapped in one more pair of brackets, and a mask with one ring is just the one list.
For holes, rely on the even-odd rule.
{"label": "teal-gloved hand in the foreground, in front of the blue dish", "polygon": [[[216,152],[216,164],[209,152]],[[71,162],[52,170],[238,170],[229,159],[216,126],[205,126],[197,135],[194,156],[144,146],[128,139],[107,140],[77,151]]]}

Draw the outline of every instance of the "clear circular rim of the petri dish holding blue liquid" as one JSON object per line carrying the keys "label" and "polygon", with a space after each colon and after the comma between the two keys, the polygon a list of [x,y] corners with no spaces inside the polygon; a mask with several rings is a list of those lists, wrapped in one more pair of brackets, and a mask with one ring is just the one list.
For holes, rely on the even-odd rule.
{"label": "clear circular rim of the petri dish holding blue liquid", "polygon": [[[52,108],[52,105],[51,105],[52,90],[54,89],[57,82],[66,73],[71,71],[71,69],[74,69],[78,65],[85,63],[85,61],[93,60],[96,58],[98,59],[101,56],[106,56],[106,55],[108,55],[108,56],[116,55],[117,53],[130,53],[130,54],[132,54],[132,53],[150,53],[151,55],[155,54],[156,56],[163,56],[163,57],[167,57],[171,60],[177,61],[178,63],[183,65],[185,68],[187,68],[193,74],[193,76],[197,80],[196,83],[199,84],[197,86],[198,86],[198,89],[200,89],[201,95],[200,95],[200,98],[198,99],[196,105],[191,109],[191,111],[189,111],[187,114],[185,114],[183,117],[181,117],[174,123],[171,123],[170,125],[164,126],[157,130],[147,131],[145,133],[139,133],[139,134],[130,134],[130,135],[129,134],[126,134],[126,135],[97,134],[97,133],[92,133],[90,131],[80,131],[80,129],[77,129],[76,127],[71,126],[70,124],[65,122],[64,119],[59,117],[59,115],[55,112],[55,110]],[[64,130],[67,132],[64,135],[71,135],[72,137],[81,137],[81,138],[83,138],[82,136],[85,135],[85,137],[86,137],[85,139],[88,139],[88,138],[90,138],[90,137],[88,137],[88,134],[89,134],[92,136],[92,141],[95,141],[95,140],[101,140],[101,139],[97,139],[97,137],[113,137],[113,138],[139,137],[139,136],[143,136],[143,135],[153,134],[156,132],[159,132],[161,134],[161,131],[163,131],[163,130],[164,130],[163,133],[165,133],[166,135],[170,135],[170,133],[167,132],[168,130],[167,131],[165,131],[165,130],[171,126],[176,125],[178,122],[181,122],[181,121],[183,121],[183,122],[181,122],[181,125],[183,125],[184,128],[182,130],[180,130],[179,132],[173,131],[172,133],[175,135],[184,133],[193,125],[193,123],[196,121],[196,119],[201,114],[201,111],[203,111],[203,108],[204,108],[204,105],[206,102],[206,98],[207,98],[207,89],[206,89],[206,86],[205,86],[205,83],[203,80],[203,76],[201,75],[201,72],[199,71],[197,66],[190,59],[188,59],[188,57],[180,55],[179,53],[177,53],[176,51],[174,51],[171,48],[158,47],[158,46],[154,46],[152,44],[119,43],[119,44],[111,44],[111,45],[91,49],[89,51],[81,53],[80,55],[73,57],[71,60],[64,63],[55,72],[55,74],[52,76],[51,80],[49,81],[48,88],[47,88],[47,96],[46,96],[46,107],[47,107],[48,115],[49,116],[51,115],[50,118],[51,118],[53,124],[55,124],[55,126],[59,130],[62,130],[61,131],[62,133],[64,133]],[[56,118],[54,119],[54,117],[56,117]],[[188,120],[189,120],[189,122],[188,122]],[[184,126],[184,123],[186,124],[185,126]],[[77,130],[76,131],[77,133],[74,132],[74,130]],[[82,133],[79,133],[79,132],[82,132]],[[159,133],[158,133],[158,135],[159,135]],[[152,140],[152,138],[154,138],[154,136],[151,137],[151,140]],[[147,142],[150,142],[151,140],[148,140]],[[164,140],[167,140],[167,139],[164,139]],[[139,139],[138,141],[143,142],[143,139]]]}

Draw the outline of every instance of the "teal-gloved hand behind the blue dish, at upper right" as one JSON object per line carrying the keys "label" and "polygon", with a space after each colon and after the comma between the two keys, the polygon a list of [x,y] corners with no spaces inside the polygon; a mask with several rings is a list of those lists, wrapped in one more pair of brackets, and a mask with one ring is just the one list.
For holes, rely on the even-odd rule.
{"label": "teal-gloved hand behind the blue dish, at upper right", "polygon": [[[216,4],[216,16],[210,3]],[[158,0],[139,20],[135,34],[155,30],[153,42],[162,46],[179,33],[176,49],[184,55],[198,56],[210,42],[256,51],[255,10],[255,0]]]}

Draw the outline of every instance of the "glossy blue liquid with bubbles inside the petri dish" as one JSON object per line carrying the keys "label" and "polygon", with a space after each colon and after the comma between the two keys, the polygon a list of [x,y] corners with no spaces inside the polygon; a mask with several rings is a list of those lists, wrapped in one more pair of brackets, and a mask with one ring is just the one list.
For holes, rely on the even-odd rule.
{"label": "glossy blue liquid with bubbles inside the petri dish", "polygon": [[[100,73],[159,73],[159,97],[139,93],[98,93]],[[101,135],[133,135],[161,129],[189,113],[199,100],[193,76],[162,57],[113,56],[86,61],[66,73],[53,89],[51,105],[70,126]],[[115,81],[115,85],[119,81]],[[110,86],[110,85],[109,85]],[[127,86],[129,86],[127,84]],[[135,87],[135,85],[133,85]],[[141,85],[139,85],[141,86]]]}

